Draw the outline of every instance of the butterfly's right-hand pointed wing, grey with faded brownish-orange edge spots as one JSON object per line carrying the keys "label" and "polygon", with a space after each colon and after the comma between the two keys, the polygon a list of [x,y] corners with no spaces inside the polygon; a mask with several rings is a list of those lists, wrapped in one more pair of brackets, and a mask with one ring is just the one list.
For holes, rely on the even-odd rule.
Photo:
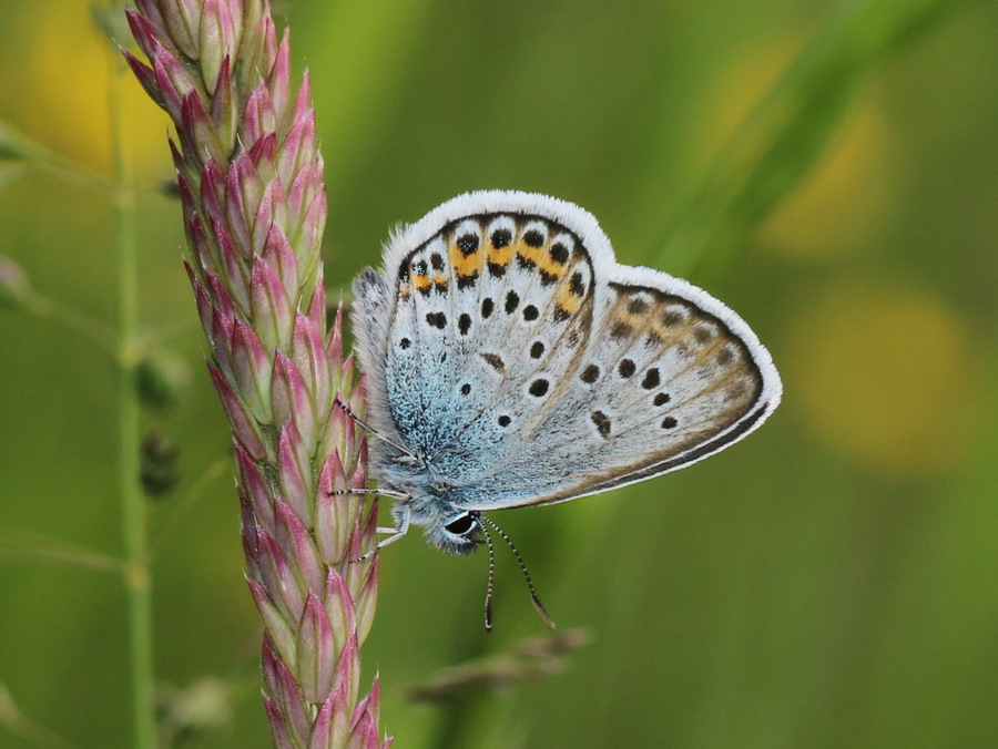
{"label": "butterfly's right-hand pointed wing, grey with faded brownish-orange edge spots", "polygon": [[526,438],[546,449],[496,465],[469,506],[558,502],[658,475],[741,439],[775,407],[772,365],[733,312],[665,274],[619,266],[628,276],[608,285],[570,387]]}

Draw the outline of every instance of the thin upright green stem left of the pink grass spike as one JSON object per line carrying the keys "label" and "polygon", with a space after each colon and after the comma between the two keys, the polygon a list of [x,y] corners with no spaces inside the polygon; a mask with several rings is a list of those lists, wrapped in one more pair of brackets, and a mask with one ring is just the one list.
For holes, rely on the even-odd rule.
{"label": "thin upright green stem left of the pink grass spike", "polygon": [[114,55],[111,71],[111,142],[114,156],[114,212],[119,269],[119,475],[124,523],[125,575],[136,749],[155,749],[153,702],[152,581],[149,568],[145,497],[139,484],[139,281],[135,242],[135,193],[123,145],[123,91],[128,66]]}

